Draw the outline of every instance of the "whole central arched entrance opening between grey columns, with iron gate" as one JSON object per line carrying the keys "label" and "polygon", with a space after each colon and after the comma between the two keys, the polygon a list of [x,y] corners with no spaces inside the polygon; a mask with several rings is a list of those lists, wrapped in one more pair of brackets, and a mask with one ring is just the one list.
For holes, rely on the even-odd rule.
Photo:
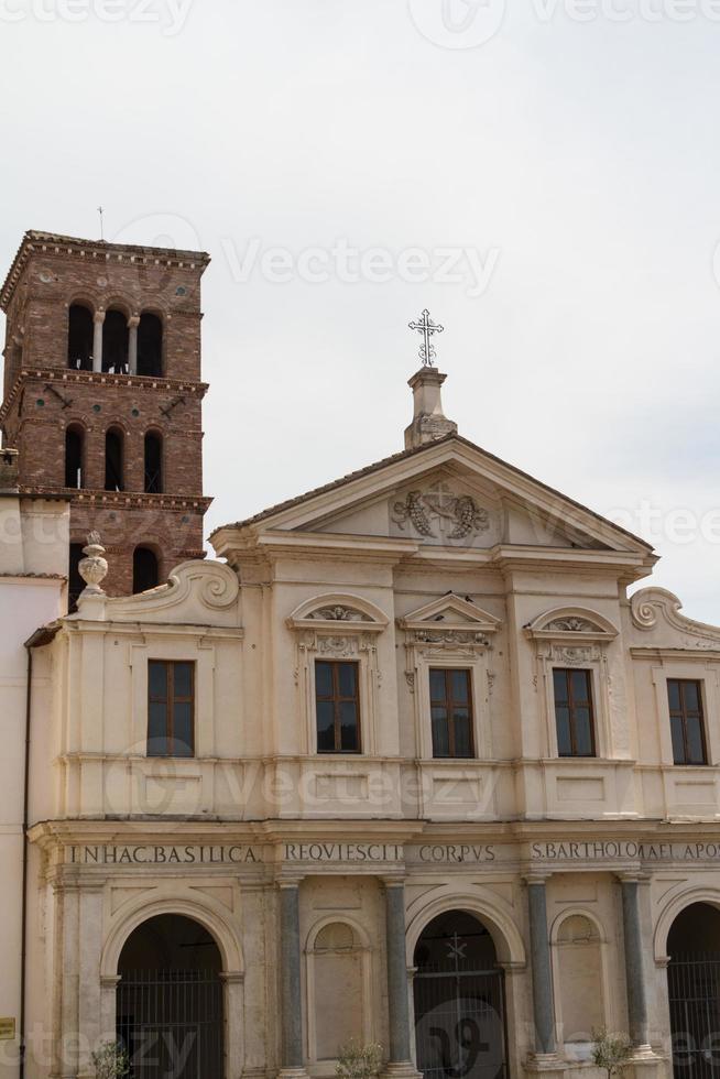
{"label": "whole central arched entrance opening between grey columns, with iron gate", "polygon": [[417,1068],[427,1079],[505,1079],[503,971],[484,925],[440,914],[415,946]]}

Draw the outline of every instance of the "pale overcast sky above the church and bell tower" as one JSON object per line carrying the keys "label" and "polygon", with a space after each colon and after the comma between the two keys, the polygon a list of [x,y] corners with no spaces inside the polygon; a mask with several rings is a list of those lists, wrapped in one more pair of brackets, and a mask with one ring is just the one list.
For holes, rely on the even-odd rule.
{"label": "pale overcast sky above the church and bell tower", "polygon": [[460,433],[718,622],[719,55],[719,0],[0,0],[0,261],[210,252],[208,533],[402,448],[429,307]]}

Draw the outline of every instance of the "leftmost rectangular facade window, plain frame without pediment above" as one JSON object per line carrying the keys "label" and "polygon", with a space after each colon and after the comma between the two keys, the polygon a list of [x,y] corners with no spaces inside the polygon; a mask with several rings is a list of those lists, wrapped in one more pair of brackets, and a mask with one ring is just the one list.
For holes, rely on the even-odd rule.
{"label": "leftmost rectangular facade window, plain frame without pediment above", "polygon": [[195,753],[195,664],[148,663],[148,756]]}

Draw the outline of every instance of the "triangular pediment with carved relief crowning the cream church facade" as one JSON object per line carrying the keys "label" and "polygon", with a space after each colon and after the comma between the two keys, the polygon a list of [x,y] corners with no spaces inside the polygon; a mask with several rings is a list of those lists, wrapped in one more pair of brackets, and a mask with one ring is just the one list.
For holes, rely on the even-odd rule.
{"label": "triangular pediment with carved relief crowning the cream church facade", "polygon": [[642,540],[459,436],[397,454],[214,534],[382,537],[422,547],[500,546],[631,552]]}

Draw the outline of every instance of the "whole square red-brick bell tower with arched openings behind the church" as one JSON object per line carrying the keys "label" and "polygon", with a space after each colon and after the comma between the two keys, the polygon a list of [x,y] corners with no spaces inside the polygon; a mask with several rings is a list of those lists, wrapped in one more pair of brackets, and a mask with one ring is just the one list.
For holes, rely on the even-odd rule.
{"label": "whole square red-brick bell tower with arched openings behind the church", "polygon": [[3,445],[20,489],[69,494],[70,602],[97,531],[109,595],[162,582],[201,558],[200,277],[197,251],[26,232],[7,314]]}

